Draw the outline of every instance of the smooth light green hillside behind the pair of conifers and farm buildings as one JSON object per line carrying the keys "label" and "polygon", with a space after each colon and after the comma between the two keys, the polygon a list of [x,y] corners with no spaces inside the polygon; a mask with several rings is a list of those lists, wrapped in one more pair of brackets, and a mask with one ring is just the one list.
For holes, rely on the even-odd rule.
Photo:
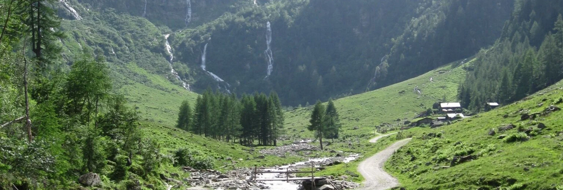
{"label": "smooth light green hillside behind the pair of conifers and farm buildings", "polygon": [[[455,101],[457,89],[464,80],[461,61],[442,66],[426,74],[375,91],[336,99],[342,124],[341,137],[350,138],[373,134],[376,125],[400,123],[415,116],[437,101]],[[459,65],[459,66],[458,66]],[[432,81],[430,79],[432,78]],[[418,88],[422,94],[414,91]],[[306,130],[312,107],[296,108],[285,114],[285,128],[289,133]],[[357,129],[355,129],[357,128]],[[312,138],[312,132],[295,133],[291,138]]]}

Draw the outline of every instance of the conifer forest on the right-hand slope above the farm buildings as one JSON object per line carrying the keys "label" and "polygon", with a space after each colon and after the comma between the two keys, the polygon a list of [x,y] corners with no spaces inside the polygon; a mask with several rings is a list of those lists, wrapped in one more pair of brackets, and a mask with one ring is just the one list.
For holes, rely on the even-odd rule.
{"label": "conifer forest on the right-hand slope above the farm buildings", "polygon": [[477,54],[459,89],[463,107],[484,110],[538,92],[563,79],[561,1],[516,1],[502,37]]}

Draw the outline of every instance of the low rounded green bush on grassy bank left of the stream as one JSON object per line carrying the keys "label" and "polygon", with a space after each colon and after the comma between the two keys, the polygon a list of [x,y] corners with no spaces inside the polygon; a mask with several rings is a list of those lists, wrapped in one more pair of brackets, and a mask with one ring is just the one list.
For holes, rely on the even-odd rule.
{"label": "low rounded green bush on grassy bank left of the stream", "polygon": [[174,166],[190,166],[199,170],[213,168],[213,158],[201,151],[180,148],[176,151],[174,158]]}

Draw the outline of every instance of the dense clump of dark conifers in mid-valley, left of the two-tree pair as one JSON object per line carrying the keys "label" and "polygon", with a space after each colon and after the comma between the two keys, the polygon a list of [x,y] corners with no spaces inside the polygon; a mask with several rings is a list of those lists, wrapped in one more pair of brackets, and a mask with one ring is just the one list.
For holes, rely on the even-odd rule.
{"label": "dense clump of dark conifers in mid-valley, left of the two-tree pair", "polygon": [[208,89],[198,96],[193,110],[188,101],[182,102],[177,127],[224,142],[276,146],[284,128],[283,112],[275,92],[238,99]]}

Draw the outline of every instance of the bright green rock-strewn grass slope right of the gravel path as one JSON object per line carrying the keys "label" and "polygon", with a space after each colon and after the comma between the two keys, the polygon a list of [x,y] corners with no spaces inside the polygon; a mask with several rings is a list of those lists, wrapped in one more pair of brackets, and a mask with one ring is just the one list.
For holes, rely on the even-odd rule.
{"label": "bright green rock-strewn grass slope right of the gravel path", "polygon": [[[519,121],[520,110],[542,112],[563,97],[563,82],[522,101],[452,125],[418,131],[386,163],[406,189],[556,189],[563,185],[563,111]],[[539,106],[539,103],[543,103]],[[557,105],[559,107],[563,104]],[[507,117],[505,117],[507,115]],[[546,129],[535,128],[538,123]],[[499,131],[500,126],[516,129]],[[534,129],[528,137],[519,130]],[[496,134],[489,135],[494,129]],[[538,132],[539,131],[539,132]],[[429,134],[440,134],[434,137]],[[507,134],[505,139],[499,135]],[[510,139],[507,139],[510,138]],[[527,138],[527,139],[526,139]],[[454,156],[473,160],[452,165]],[[410,161],[415,157],[414,161]],[[442,167],[446,166],[446,167]],[[452,166],[451,168],[447,168]]]}

